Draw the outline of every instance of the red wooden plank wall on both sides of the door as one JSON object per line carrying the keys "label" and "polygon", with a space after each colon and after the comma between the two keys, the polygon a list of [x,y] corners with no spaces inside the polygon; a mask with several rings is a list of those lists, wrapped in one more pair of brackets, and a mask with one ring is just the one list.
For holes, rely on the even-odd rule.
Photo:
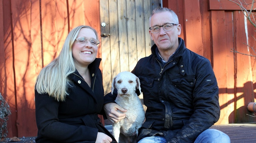
{"label": "red wooden plank wall on both sides of the door", "polygon": [[[0,92],[12,113],[8,137],[36,136],[36,77],[72,28],[90,25],[101,33],[99,6],[99,0],[0,0]],[[239,7],[227,0],[163,0],[163,6],[177,13],[187,48],[212,63],[220,88],[217,124],[255,121],[246,115],[252,115],[246,105],[255,101],[255,57],[230,52],[256,55],[243,44],[255,48],[256,34]]]}

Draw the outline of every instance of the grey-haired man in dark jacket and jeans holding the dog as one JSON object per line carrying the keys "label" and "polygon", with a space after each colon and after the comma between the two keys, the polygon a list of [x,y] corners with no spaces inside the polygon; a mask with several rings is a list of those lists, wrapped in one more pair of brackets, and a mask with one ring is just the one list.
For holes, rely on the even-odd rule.
{"label": "grey-haired man in dark jacket and jeans holding the dog", "polygon": [[[139,129],[139,143],[222,142],[228,135],[209,129],[220,115],[218,85],[208,59],[187,49],[177,15],[168,8],[155,9],[149,19],[155,45],[152,55],[133,69],[140,80],[146,121]],[[114,103],[115,94],[104,97],[104,110],[112,122],[125,118]]]}

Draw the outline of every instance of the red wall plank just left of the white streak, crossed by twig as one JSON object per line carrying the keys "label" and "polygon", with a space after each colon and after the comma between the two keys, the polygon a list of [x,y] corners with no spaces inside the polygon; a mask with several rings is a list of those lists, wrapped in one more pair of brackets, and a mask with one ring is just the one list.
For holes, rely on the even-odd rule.
{"label": "red wall plank just left of the white streak, crossed by twig", "polygon": [[[234,11],[234,47],[238,52],[249,54],[246,43],[245,34],[245,17],[241,11]],[[236,75],[236,88],[237,88],[237,114],[235,116],[237,122],[254,121],[247,110],[247,104],[254,98],[253,83],[251,75],[250,57],[242,54],[237,54],[237,75]]]}

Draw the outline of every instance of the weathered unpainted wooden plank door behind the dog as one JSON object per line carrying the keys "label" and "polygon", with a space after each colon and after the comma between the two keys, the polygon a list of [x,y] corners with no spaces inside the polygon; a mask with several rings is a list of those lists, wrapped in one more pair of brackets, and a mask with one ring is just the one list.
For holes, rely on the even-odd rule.
{"label": "weathered unpainted wooden plank door behind the dog", "polygon": [[151,54],[149,17],[157,7],[159,0],[100,0],[105,94],[119,72],[132,71],[139,59]]}

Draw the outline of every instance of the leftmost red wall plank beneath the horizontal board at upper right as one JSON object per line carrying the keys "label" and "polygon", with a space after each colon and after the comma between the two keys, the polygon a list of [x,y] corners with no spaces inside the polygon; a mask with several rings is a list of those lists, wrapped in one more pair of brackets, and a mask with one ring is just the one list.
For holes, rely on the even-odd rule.
{"label": "leftmost red wall plank beneath the horizontal board at upper right", "polygon": [[216,124],[227,124],[227,61],[225,40],[225,12],[211,11],[213,41],[213,70],[219,86],[220,119]]}

